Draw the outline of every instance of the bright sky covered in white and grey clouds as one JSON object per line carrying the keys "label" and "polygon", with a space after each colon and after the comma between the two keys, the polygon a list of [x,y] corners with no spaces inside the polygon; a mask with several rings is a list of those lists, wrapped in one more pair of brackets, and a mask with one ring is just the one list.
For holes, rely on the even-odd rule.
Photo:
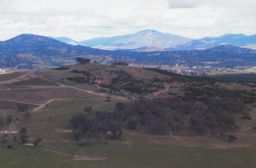
{"label": "bright sky covered in white and grey clouds", "polygon": [[154,29],[190,38],[256,34],[256,0],[0,0],[0,40],[80,41]]}

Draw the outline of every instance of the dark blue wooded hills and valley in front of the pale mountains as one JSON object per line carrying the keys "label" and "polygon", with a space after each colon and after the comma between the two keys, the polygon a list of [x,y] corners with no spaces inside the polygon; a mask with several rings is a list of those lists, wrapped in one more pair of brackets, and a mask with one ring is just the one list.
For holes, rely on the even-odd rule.
{"label": "dark blue wooded hills and valley in front of the pale mountains", "polygon": [[[235,67],[256,66],[256,50],[220,45],[207,50],[154,51],[101,50],[70,45],[49,37],[22,34],[0,42],[0,68],[41,69],[74,64],[77,57],[90,58],[102,64],[122,61],[135,64]],[[137,52],[140,51],[140,52]],[[147,52],[143,52],[147,51]]]}

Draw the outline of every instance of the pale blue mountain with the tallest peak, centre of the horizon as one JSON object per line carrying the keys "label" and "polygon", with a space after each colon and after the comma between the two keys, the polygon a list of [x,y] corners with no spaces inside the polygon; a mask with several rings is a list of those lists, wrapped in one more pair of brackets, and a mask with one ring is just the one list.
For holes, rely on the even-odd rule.
{"label": "pale blue mountain with the tallest peak, centre of the horizon", "polygon": [[167,48],[175,46],[191,38],[162,33],[155,30],[143,30],[135,34],[116,37],[97,37],[89,40],[75,41],[67,37],[50,37],[68,44],[80,44],[88,47],[115,50],[115,49],[135,49],[140,47]]}

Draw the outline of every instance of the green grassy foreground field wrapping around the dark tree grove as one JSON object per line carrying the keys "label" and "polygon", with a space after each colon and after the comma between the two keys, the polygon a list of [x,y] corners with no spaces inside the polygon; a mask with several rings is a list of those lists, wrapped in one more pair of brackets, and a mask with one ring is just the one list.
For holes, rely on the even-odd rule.
{"label": "green grassy foreground field wrapping around the dark tree grove", "polygon": [[[255,131],[249,129],[256,123],[255,109],[253,120],[246,122],[247,129],[236,133],[239,142],[234,144],[208,136],[156,136],[146,135],[140,130],[135,132],[124,130],[124,135],[119,140],[112,140],[111,135],[107,135],[108,144],[101,144],[100,140],[96,139],[92,144],[79,147],[79,142],[72,136],[69,119],[74,114],[83,112],[83,108],[87,105],[93,106],[94,110],[109,111],[114,109],[118,101],[120,100],[56,101],[38,112],[33,112],[30,120],[20,119],[16,130],[26,127],[30,135],[29,141],[38,136],[42,137],[43,141],[39,149],[18,144],[14,145],[13,149],[6,149],[0,145],[0,167],[254,168],[256,166],[254,157],[256,143],[254,140],[243,138],[242,134],[249,133],[250,136],[255,136]],[[48,117],[50,114],[54,115],[52,120]],[[22,112],[12,112],[12,115],[21,116]],[[238,119],[238,122],[245,121]]]}

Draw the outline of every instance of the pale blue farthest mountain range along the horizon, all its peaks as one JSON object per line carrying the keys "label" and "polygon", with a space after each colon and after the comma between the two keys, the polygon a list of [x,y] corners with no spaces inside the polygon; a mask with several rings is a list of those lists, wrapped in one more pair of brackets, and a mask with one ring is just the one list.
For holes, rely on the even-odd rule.
{"label": "pale blue farthest mountain range along the horizon, all its peaks", "polygon": [[143,30],[135,34],[116,37],[97,37],[75,41],[67,37],[51,37],[72,45],[84,45],[105,50],[163,51],[163,50],[203,50],[218,45],[256,48],[256,35],[226,34],[219,37],[191,39],[155,30]]}

